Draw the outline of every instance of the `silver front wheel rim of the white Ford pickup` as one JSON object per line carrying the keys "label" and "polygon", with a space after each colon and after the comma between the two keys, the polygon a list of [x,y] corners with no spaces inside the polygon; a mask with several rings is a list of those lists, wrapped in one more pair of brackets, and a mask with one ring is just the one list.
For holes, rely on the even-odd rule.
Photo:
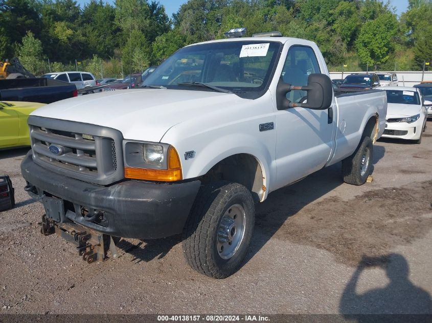
{"label": "silver front wheel rim of the white Ford pickup", "polygon": [[240,204],[226,209],[217,232],[217,252],[222,259],[232,258],[238,251],[246,228],[246,213]]}

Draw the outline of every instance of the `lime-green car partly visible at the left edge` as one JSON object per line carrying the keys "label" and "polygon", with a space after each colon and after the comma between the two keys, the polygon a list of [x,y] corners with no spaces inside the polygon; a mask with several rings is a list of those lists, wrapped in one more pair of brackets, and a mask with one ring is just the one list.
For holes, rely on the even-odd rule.
{"label": "lime-green car partly visible at the left edge", "polygon": [[29,114],[46,104],[0,101],[0,149],[30,146]]}

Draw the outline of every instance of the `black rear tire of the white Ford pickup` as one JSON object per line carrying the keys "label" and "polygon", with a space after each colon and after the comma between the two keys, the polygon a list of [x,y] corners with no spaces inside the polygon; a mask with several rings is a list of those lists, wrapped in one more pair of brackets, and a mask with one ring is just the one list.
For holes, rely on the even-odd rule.
{"label": "black rear tire of the white Ford pickup", "polygon": [[[367,155],[367,150],[369,154]],[[342,175],[344,182],[352,185],[363,185],[366,183],[372,169],[374,146],[371,138],[363,137],[355,152],[342,161]],[[369,156],[366,171],[362,174],[362,158]]]}

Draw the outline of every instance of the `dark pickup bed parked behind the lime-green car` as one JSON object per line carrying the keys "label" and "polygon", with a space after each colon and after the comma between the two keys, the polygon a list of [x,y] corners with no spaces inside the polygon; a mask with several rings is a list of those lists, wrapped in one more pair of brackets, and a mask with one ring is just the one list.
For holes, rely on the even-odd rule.
{"label": "dark pickup bed parked behind the lime-green car", "polygon": [[33,78],[0,80],[0,101],[53,103],[78,95],[75,84]]}

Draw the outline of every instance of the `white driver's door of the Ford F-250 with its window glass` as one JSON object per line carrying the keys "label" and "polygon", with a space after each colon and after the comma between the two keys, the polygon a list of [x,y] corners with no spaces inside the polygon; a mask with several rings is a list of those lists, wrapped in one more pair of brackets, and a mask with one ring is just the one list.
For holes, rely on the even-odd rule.
{"label": "white driver's door of the Ford F-250 with its window glass", "polygon": [[[291,85],[307,85],[311,73],[321,73],[311,47],[294,45],[288,50],[282,79]],[[290,91],[291,102],[303,102],[306,91]],[[324,167],[333,145],[333,108],[288,108],[276,113],[277,187],[299,180]]]}

